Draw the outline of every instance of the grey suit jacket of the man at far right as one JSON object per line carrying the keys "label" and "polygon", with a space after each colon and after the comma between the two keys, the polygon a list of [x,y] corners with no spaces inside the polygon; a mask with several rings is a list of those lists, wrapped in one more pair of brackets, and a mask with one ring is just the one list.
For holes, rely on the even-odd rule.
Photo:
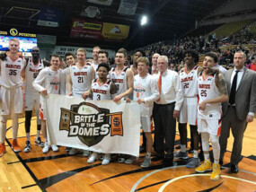
{"label": "grey suit jacket of the man at far right", "polygon": [[[224,74],[228,95],[231,92],[231,75],[233,70],[230,69]],[[228,109],[228,103],[229,100],[222,103],[224,117]],[[249,112],[255,113],[256,111],[256,73],[246,67],[244,67],[241,82],[235,93],[234,103],[236,116],[239,120],[246,119]]]}

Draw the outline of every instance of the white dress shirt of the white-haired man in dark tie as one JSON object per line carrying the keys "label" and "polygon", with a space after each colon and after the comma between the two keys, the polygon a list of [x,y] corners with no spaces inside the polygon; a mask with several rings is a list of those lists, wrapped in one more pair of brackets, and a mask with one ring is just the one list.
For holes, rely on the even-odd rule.
{"label": "white dress shirt of the white-haired man in dark tie", "polygon": [[[155,74],[159,78],[160,73]],[[180,76],[177,72],[167,69],[162,74],[162,88],[160,93],[160,100],[157,104],[169,104],[175,102],[175,110],[180,110],[183,102],[183,92],[181,88]]]}

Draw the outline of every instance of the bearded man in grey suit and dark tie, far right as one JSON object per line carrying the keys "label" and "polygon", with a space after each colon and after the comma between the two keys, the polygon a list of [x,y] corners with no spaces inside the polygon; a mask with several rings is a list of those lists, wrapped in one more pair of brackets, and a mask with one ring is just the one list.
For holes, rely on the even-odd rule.
{"label": "bearded man in grey suit and dark tie, far right", "polygon": [[253,121],[256,111],[256,73],[244,66],[246,55],[242,51],[234,54],[234,69],[228,70],[224,77],[229,100],[223,103],[223,122],[220,136],[220,162],[223,162],[230,128],[234,135],[231,155],[231,172],[238,172],[238,162],[243,145],[243,133],[247,123]]}

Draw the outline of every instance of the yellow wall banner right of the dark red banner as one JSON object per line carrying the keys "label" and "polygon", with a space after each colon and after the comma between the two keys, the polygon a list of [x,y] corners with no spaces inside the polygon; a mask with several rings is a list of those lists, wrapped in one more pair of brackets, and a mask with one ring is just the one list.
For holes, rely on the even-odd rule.
{"label": "yellow wall banner right of the dark red banner", "polygon": [[127,39],[128,32],[128,25],[103,22],[102,36],[104,37],[104,39]]}

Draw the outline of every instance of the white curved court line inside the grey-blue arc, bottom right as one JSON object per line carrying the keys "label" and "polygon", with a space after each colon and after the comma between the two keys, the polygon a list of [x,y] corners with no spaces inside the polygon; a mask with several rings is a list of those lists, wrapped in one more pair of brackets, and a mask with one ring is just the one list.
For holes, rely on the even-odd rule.
{"label": "white curved court line inside the grey-blue arc, bottom right", "polygon": [[[169,180],[168,182],[164,183],[163,186],[161,188],[159,188],[158,192],[163,192],[164,188],[166,188],[168,185],[170,185],[171,183],[173,183],[176,180],[179,179],[184,179],[184,178],[191,178],[191,177],[199,177],[199,176],[210,176],[211,174],[192,174],[192,175],[183,175],[181,177]],[[253,185],[256,185],[256,182],[253,182],[252,180],[247,180],[247,179],[241,179],[241,178],[234,178],[231,176],[227,176],[227,175],[222,175],[221,178],[227,178],[227,179],[236,179],[236,180],[241,180],[247,183],[251,183]]]}

